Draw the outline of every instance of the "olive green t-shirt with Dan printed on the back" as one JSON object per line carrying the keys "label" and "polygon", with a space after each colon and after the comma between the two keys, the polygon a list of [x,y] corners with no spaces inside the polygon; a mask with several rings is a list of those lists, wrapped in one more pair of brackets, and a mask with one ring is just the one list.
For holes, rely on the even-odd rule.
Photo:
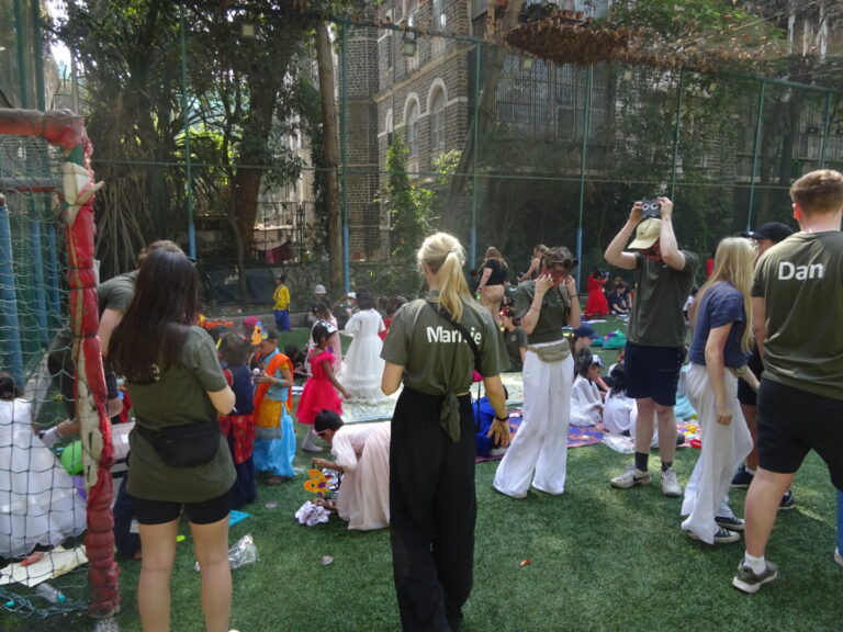
{"label": "olive green t-shirt with Dan printed on the back", "polygon": [[764,377],[843,399],[843,233],[797,233],[758,260]]}

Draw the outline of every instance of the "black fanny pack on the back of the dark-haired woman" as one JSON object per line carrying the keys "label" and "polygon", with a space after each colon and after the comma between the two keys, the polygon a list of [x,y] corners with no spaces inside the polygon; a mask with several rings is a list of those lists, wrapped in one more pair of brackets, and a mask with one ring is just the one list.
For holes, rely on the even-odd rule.
{"label": "black fanny pack on the back of the dark-haired woman", "polygon": [[135,426],[140,437],[151,443],[155,451],[171,467],[194,467],[212,461],[220,450],[220,425],[209,421],[170,426],[155,431]]}

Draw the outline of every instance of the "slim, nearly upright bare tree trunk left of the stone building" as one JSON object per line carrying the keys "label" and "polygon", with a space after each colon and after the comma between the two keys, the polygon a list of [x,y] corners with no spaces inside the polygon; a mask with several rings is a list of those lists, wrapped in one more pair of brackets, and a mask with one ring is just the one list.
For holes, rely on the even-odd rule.
{"label": "slim, nearly upright bare tree trunk left of the stone building", "polygon": [[334,95],[334,55],[326,22],[316,24],[316,60],[319,67],[319,93],[322,94],[322,128],[325,147],[326,192],[328,213],[328,258],[330,260],[330,287],[336,292],[342,287],[342,221],[340,217],[339,183],[339,134],[337,125],[337,102]]}

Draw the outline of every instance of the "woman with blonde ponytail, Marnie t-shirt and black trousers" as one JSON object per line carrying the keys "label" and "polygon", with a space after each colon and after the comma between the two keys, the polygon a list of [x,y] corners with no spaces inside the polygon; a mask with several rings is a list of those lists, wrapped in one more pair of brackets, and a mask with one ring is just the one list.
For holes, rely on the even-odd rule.
{"label": "woman with blonde ponytail, Marnie t-shirt and black trousers", "polygon": [[[403,390],[392,418],[390,539],[404,630],[457,630],[474,565],[476,369],[496,421],[490,436],[509,444],[501,335],[469,293],[465,251],[437,233],[417,253],[429,293],[395,314],[383,342],[381,388]],[[468,339],[474,342],[472,346]]]}

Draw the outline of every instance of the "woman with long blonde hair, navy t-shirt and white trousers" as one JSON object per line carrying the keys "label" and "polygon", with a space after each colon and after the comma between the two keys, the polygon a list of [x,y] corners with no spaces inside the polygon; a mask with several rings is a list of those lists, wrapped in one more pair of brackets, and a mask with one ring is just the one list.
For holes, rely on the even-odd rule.
{"label": "woman with long blonde hair, navy t-shirt and white trousers", "polygon": [[688,397],[697,410],[702,451],[682,504],[682,529],[708,544],[740,540],[743,520],[729,507],[729,486],[752,450],[738,402],[738,380],[757,390],[746,366],[752,348],[752,285],[755,244],[727,237],[717,247],[715,270],[700,289],[690,320]]}

